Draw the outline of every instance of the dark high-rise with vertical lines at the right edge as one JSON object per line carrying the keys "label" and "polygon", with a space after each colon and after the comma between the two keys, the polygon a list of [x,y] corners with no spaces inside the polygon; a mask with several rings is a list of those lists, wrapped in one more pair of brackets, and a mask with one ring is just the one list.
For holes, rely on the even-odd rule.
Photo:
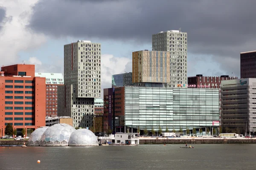
{"label": "dark high-rise with vertical lines at the right edge", "polygon": [[240,53],[240,77],[256,78],[256,51]]}

